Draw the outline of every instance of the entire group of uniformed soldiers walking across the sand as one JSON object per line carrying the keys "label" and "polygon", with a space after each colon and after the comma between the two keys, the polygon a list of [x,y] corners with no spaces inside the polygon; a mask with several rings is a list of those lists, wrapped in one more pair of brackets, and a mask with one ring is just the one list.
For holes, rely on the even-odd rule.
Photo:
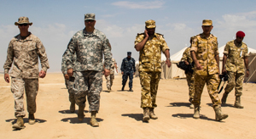
{"label": "entire group of uniformed soldiers walking across the sand", "polygon": [[[23,117],[26,116],[23,104],[24,90],[26,92],[29,124],[35,124],[36,96],[38,93],[38,77],[44,78],[49,69],[48,58],[43,43],[37,36],[28,31],[31,22],[27,17],[20,17],[15,22],[20,34],[15,36],[8,47],[6,62],[3,66],[4,80],[9,83],[9,69],[11,71],[11,92],[15,97],[15,129],[24,128]],[[84,120],[86,98],[89,102],[90,125],[99,126],[96,114],[100,108],[100,93],[102,92],[102,75],[107,80],[108,92],[111,92],[114,79],[114,69],[118,72],[117,64],[111,53],[110,42],[102,31],[96,30],[96,15],[84,14],[85,28],[73,35],[62,55],[61,71],[66,80],[69,93],[70,112],[75,112],[75,105],[79,106],[78,119]],[[182,60],[186,64],[195,63],[194,73],[186,73],[189,85],[190,108],[194,108],[194,118],[200,118],[201,93],[205,83],[212,99],[212,107],[216,120],[224,120],[228,114],[223,114],[218,98],[218,41],[213,36],[212,20],[205,19],[202,23],[203,33],[190,39],[191,46],[183,53]],[[156,96],[161,73],[161,53],[166,56],[166,65],[171,67],[170,48],[165,38],[155,33],[155,21],[149,19],[145,22],[145,31],[138,33],[134,48],[139,52],[139,78],[141,82],[141,108],[143,108],[143,121],[156,120],[154,108],[157,107]],[[229,92],[236,86],[236,108],[241,106],[241,86],[246,65],[247,75],[247,45],[242,42],[245,34],[236,33],[236,40],[228,42],[224,49],[224,68],[222,72],[229,75],[229,84],[225,88],[222,103],[226,102]],[[42,70],[38,72],[38,57]],[[104,62],[102,62],[104,58]],[[132,90],[132,79],[136,72],[135,60],[131,52],[123,59],[121,74],[123,75],[122,88],[124,91],[129,77],[129,91]]]}

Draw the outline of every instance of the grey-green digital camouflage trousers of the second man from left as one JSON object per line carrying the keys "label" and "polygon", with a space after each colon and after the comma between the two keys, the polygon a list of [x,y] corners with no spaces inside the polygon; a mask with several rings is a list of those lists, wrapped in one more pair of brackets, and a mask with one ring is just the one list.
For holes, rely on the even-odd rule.
{"label": "grey-green digital camouflage trousers of the second man from left", "polygon": [[102,72],[100,71],[76,71],[74,72],[73,91],[75,103],[84,105],[86,97],[89,102],[89,112],[99,111],[100,93],[102,92]]}

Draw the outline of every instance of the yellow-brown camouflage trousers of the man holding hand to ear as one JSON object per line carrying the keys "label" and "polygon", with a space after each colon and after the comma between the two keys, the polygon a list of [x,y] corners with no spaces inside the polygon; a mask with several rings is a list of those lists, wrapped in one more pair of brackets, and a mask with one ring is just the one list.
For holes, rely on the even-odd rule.
{"label": "yellow-brown camouflage trousers of the man holding hand to ear", "polygon": [[142,86],[141,108],[157,107],[155,101],[161,73],[141,71],[139,75]]}

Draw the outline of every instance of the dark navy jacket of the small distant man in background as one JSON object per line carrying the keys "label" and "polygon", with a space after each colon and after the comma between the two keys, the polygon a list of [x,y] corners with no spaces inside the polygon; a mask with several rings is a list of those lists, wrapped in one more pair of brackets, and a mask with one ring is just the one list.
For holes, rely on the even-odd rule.
{"label": "dark navy jacket of the small distant man in background", "polygon": [[128,73],[128,72],[136,72],[136,68],[135,68],[135,60],[134,58],[131,58],[130,60],[128,60],[128,58],[124,58],[121,64],[121,71]]}

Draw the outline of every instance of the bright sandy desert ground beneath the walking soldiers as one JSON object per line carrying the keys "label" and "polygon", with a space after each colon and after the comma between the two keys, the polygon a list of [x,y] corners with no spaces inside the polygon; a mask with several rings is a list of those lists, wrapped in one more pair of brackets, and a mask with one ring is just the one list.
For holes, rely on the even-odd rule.
{"label": "bright sandy desert ground beneath the walking soldiers", "polygon": [[[121,75],[113,81],[113,91],[108,93],[105,78],[101,93],[101,107],[97,120],[99,127],[90,126],[88,103],[84,110],[85,118],[79,122],[77,110],[69,112],[67,89],[63,76],[49,73],[40,79],[35,114],[37,123],[29,125],[27,112],[26,128],[15,131],[14,98],[10,84],[0,75],[0,138],[256,138],[256,84],[244,84],[241,103],[245,108],[234,108],[234,91],[230,93],[224,113],[229,118],[217,122],[210,97],[205,87],[201,102],[201,119],[192,118],[189,108],[188,86],[185,80],[161,80],[155,114],[158,120],[143,123],[143,109],[140,108],[139,78],[134,78],[134,92],[121,92]],[[222,92],[223,93],[223,92]],[[222,96],[222,94],[221,94]],[[25,107],[26,108],[26,107]],[[78,107],[76,106],[76,109]]]}

